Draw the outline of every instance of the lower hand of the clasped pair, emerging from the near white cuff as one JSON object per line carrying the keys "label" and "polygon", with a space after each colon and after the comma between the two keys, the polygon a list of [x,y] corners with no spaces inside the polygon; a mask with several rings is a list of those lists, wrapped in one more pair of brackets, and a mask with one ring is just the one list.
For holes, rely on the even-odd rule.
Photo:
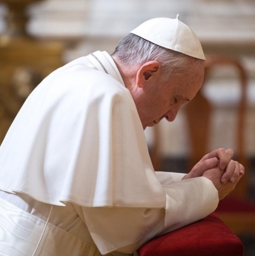
{"label": "lower hand of the clasped pair, emerging from the near white cuff", "polygon": [[[231,178],[222,182],[222,177],[224,173],[232,173]],[[230,160],[230,162],[226,166],[226,171],[222,174],[222,170],[218,167],[207,170],[202,174],[203,177],[211,180],[219,193],[219,199],[223,199],[226,195],[228,195],[236,186],[238,181],[242,178],[244,174],[244,166],[239,164],[237,161]]]}

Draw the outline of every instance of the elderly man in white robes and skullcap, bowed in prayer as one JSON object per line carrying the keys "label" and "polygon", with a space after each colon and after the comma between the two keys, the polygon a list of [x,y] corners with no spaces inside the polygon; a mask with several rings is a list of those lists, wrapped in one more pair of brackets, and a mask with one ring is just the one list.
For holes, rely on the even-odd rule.
{"label": "elderly man in white robes and skullcap, bowed in prayer", "polygon": [[144,136],[192,100],[204,62],[189,27],[155,18],[111,56],[80,57],[44,79],[1,145],[0,254],[133,254],[212,213],[244,174],[232,150],[188,174],[155,173]]}

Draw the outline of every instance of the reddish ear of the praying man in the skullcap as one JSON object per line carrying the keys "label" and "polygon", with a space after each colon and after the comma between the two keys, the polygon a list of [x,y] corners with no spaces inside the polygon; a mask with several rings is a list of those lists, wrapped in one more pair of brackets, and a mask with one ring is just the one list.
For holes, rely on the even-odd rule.
{"label": "reddish ear of the praying man in the skullcap", "polygon": [[142,88],[147,84],[159,79],[160,63],[158,61],[148,61],[141,65],[137,71],[136,83]]}

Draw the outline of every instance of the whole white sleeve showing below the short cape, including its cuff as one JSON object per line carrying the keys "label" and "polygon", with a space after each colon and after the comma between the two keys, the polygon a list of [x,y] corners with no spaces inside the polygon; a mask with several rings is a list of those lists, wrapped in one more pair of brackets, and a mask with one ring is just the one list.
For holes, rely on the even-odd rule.
{"label": "whole white sleeve showing below the short cape, including its cuff", "polygon": [[166,192],[165,209],[83,207],[88,230],[102,254],[133,253],[149,239],[198,221],[215,210],[219,199],[207,178],[180,180],[183,176],[175,173],[169,174],[172,182],[167,184],[167,173],[157,175]]}

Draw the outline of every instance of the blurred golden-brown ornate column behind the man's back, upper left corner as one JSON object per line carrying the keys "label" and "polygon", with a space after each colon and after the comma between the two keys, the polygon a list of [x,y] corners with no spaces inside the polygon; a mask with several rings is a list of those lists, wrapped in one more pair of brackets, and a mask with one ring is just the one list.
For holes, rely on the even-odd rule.
{"label": "blurred golden-brown ornate column behind the man's back, upper left corner", "polygon": [[63,64],[64,45],[27,33],[27,8],[42,0],[0,0],[5,31],[0,35],[0,142],[28,94]]}

